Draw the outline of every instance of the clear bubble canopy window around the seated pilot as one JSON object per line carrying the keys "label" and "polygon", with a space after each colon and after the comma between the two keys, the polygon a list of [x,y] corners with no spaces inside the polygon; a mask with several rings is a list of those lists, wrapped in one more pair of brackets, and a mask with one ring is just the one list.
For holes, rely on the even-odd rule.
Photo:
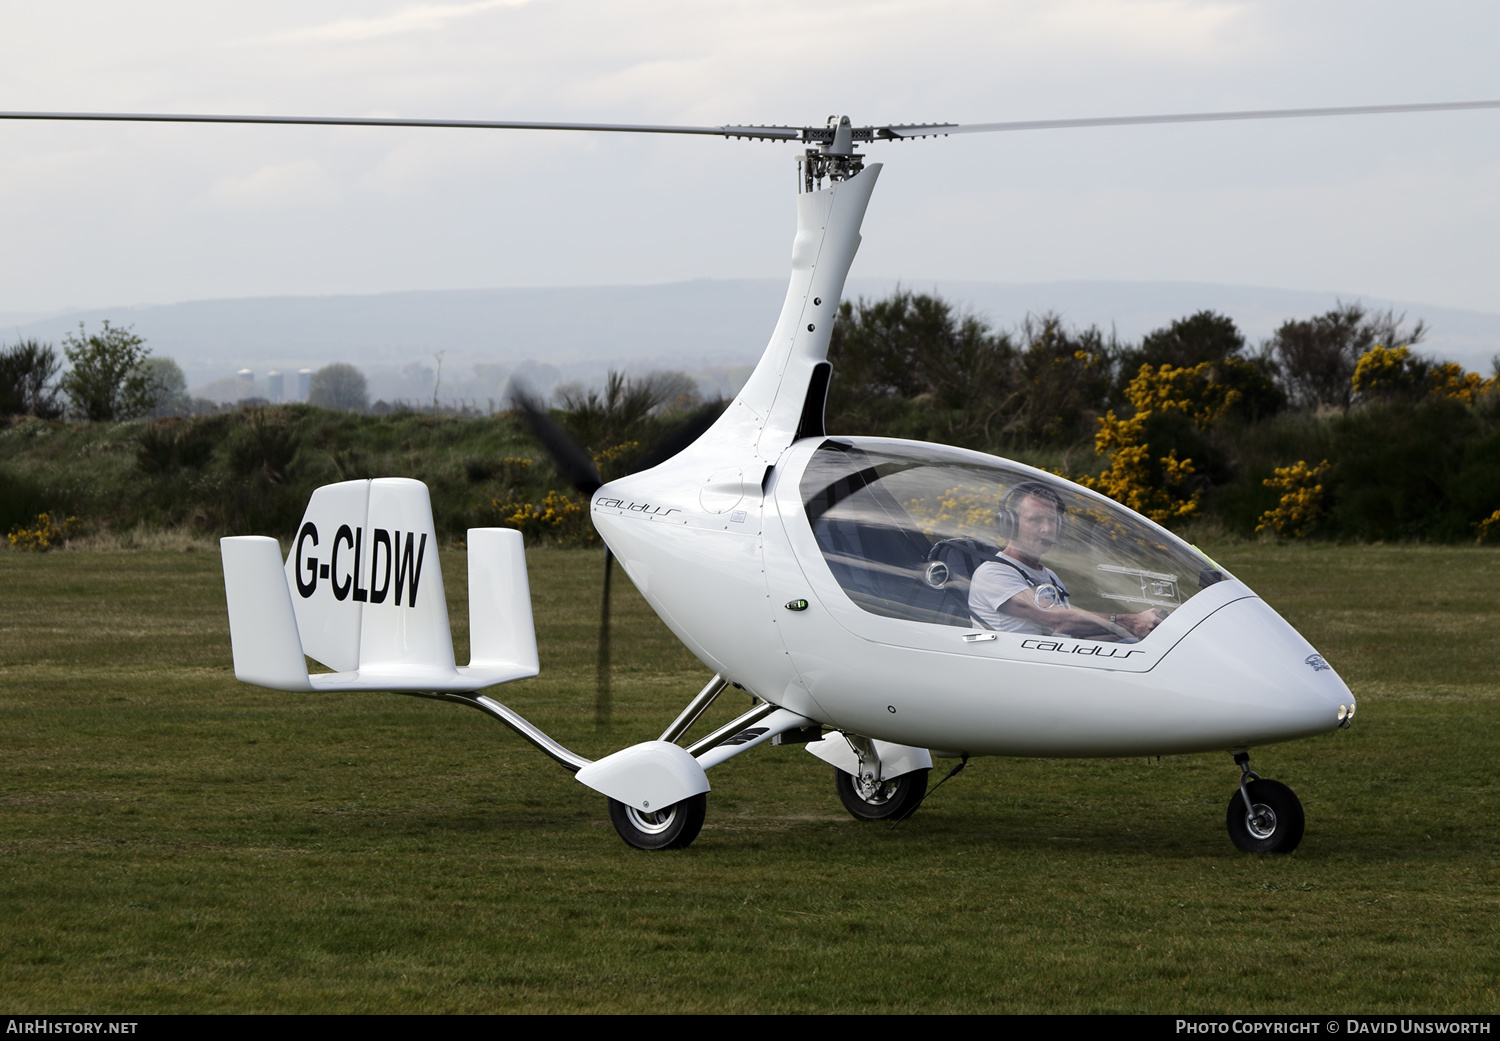
{"label": "clear bubble canopy window around the seated pilot", "polygon": [[993,456],[825,441],[800,490],[838,585],[890,618],[1131,640],[1222,578],[1124,507]]}

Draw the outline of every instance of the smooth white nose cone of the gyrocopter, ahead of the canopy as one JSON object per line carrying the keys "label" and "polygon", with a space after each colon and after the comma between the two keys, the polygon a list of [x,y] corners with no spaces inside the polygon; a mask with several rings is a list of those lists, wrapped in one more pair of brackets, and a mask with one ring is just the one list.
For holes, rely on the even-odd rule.
{"label": "smooth white nose cone of the gyrocopter, ahead of the canopy", "polygon": [[1354,711],[1348,687],[1264,600],[1236,600],[1182,638],[1152,674],[1197,723],[1252,747],[1324,734]]}

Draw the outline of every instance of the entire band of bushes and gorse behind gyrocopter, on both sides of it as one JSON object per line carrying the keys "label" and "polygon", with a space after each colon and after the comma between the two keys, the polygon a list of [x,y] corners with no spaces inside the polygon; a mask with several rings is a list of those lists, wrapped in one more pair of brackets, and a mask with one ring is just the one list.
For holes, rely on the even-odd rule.
{"label": "entire band of bushes and gorse behind gyrocopter, on both sides of it", "polygon": [[[1500,370],[1431,358],[1424,334],[1422,322],[1340,304],[1257,345],[1210,310],[1122,342],[1046,314],[998,330],[936,296],[898,291],[842,306],[826,429],[1011,456],[1178,528],[1500,538]],[[63,354],[58,374],[48,345],[0,350],[0,414],[165,418],[108,435],[134,456],[129,474],[116,472],[120,456],[88,447],[104,442],[87,424],[0,423],[8,524],[76,508],[99,524],[268,530],[318,482],[399,472],[429,482],[453,531],[501,522],[591,537],[586,512],[568,508],[568,489],[514,416],[358,416],[363,376],[339,364],[314,376],[310,405],[182,417],[192,410],[182,410],[180,369],[130,330],[80,327]],[[675,372],[554,392],[554,414],[606,477],[698,405],[694,381]],[[430,447],[399,447],[417,444]]]}

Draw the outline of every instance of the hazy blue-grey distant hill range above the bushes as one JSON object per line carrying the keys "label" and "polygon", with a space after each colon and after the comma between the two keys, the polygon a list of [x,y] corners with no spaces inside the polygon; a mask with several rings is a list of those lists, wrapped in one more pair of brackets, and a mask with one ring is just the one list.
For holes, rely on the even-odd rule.
{"label": "hazy blue-grey distant hill range above the bushes", "polygon": [[[880,297],[894,279],[850,279],[846,297]],[[1077,326],[1112,327],[1137,339],[1173,318],[1203,309],[1230,315],[1251,342],[1287,318],[1306,318],[1359,300],[1425,320],[1424,348],[1470,369],[1490,370],[1500,352],[1500,314],[1308,292],[1197,282],[998,284],[903,280],[938,291],[998,327],[1026,314],[1054,310]],[[496,369],[525,360],[550,366],[561,380],[597,380],[608,368],[728,372],[753,363],[776,322],[782,279],[694,280],[666,285],[567,286],[532,290],[444,290],[332,297],[250,297],[135,308],[94,308],[46,316],[0,315],[0,342],[16,334],[58,342],[86,322],[132,326],[154,354],[183,366],[189,386],[250,369],[294,374],[330,362],[384,372],[381,386],[417,387],[418,369],[444,352],[442,388],[495,386]],[[414,366],[414,368],[408,368]],[[483,380],[474,366],[484,366]],[[408,368],[408,382],[396,380]],[[417,375],[412,375],[417,374]],[[380,382],[380,380],[372,380]],[[296,386],[286,381],[288,392]],[[430,382],[426,384],[430,394]],[[416,392],[414,392],[416,393]],[[462,390],[459,392],[462,393]],[[444,396],[447,396],[444,393]]]}

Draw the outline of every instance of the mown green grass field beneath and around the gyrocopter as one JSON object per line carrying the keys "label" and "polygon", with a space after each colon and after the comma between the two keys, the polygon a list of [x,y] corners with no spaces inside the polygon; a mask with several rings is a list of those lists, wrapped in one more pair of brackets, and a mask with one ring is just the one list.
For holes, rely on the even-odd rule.
{"label": "mown green grass field beneath and around the gyrocopter", "polygon": [[[1290,856],[1230,844],[1227,754],[980,759],[892,831],[795,747],[642,854],[478,712],[237,684],[212,552],[0,554],[0,1006],[1494,1011],[1500,552],[1215,555],[1359,696],[1256,753]],[[500,696],[582,754],[656,736],[702,666],[616,582],[597,729],[600,556],[530,560],[543,670]]]}

